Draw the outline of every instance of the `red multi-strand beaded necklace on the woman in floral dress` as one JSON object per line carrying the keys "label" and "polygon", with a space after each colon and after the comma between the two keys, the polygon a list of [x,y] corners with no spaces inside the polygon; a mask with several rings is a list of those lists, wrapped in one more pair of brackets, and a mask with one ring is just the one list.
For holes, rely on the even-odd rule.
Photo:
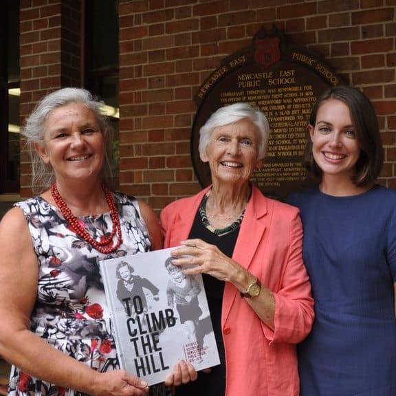
{"label": "red multi-strand beaded necklace on the woman in floral dress", "polygon": [[[89,232],[81,225],[81,222],[78,220],[76,216],[72,213],[67,203],[63,201],[61,194],[59,194],[58,187],[56,187],[56,183],[52,184],[51,187],[51,195],[54,198],[56,205],[58,206],[59,210],[61,210],[63,216],[69,223],[69,227],[76,232],[76,234],[80,235],[85,241],[87,241],[90,245],[94,246],[96,250],[101,253],[109,254],[111,252],[115,252],[121,243],[122,243],[122,232],[121,232],[121,223],[120,223],[120,216],[118,215],[117,207],[115,206],[115,200],[113,195],[111,194],[109,188],[106,186],[102,186],[104,195],[106,196],[107,204],[110,208],[110,217],[111,221],[113,222],[113,230],[111,234],[104,238],[103,236],[100,238],[100,241],[96,241]],[[115,236],[115,232],[117,232],[117,243],[113,245],[113,238]]]}

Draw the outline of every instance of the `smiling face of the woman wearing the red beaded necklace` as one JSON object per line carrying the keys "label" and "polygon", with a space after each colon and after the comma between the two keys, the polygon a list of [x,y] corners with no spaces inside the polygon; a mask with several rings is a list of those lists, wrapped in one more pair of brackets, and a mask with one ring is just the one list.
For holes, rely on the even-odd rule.
{"label": "smiling face of the woman wearing the red beaded necklace", "polygon": [[56,179],[98,177],[105,148],[93,111],[78,102],[58,107],[48,116],[44,129],[44,144],[36,144],[36,150],[52,166]]}

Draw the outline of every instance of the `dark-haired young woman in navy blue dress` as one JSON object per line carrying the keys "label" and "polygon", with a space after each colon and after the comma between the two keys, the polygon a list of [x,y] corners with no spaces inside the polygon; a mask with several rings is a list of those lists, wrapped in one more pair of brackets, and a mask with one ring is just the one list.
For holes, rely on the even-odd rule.
{"label": "dark-haired young woman in navy blue dress", "polygon": [[396,191],[380,186],[375,108],[338,85],[316,101],[305,166],[317,184],[294,192],[316,301],[298,345],[301,396],[396,395]]}

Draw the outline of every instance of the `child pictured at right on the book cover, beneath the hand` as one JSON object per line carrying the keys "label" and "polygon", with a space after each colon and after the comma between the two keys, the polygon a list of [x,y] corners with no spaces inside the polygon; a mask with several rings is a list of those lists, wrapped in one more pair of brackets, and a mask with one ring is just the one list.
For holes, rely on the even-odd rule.
{"label": "child pictured at right on the book cover, beneath the hand", "polygon": [[188,340],[197,344],[197,353],[200,355],[203,340],[198,340],[197,327],[202,315],[198,300],[201,287],[193,276],[186,276],[180,267],[173,265],[172,260],[169,257],[165,261],[166,271],[170,276],[166,287],[168,306],[176,307],[180,322],[186,327]]}

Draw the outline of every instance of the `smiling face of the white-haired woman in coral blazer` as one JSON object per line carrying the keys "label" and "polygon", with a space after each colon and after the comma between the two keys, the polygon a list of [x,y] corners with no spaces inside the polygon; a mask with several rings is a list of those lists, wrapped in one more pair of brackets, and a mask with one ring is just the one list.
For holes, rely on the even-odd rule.
{"label": "smiling face of the white-haired woman in coral blazer", "polygon": [[248,183],[254,168],[263,162],[257,159],[257,133],[257,127],[248,119],[212,131],[201,159],[209,163],[213,183]]}

